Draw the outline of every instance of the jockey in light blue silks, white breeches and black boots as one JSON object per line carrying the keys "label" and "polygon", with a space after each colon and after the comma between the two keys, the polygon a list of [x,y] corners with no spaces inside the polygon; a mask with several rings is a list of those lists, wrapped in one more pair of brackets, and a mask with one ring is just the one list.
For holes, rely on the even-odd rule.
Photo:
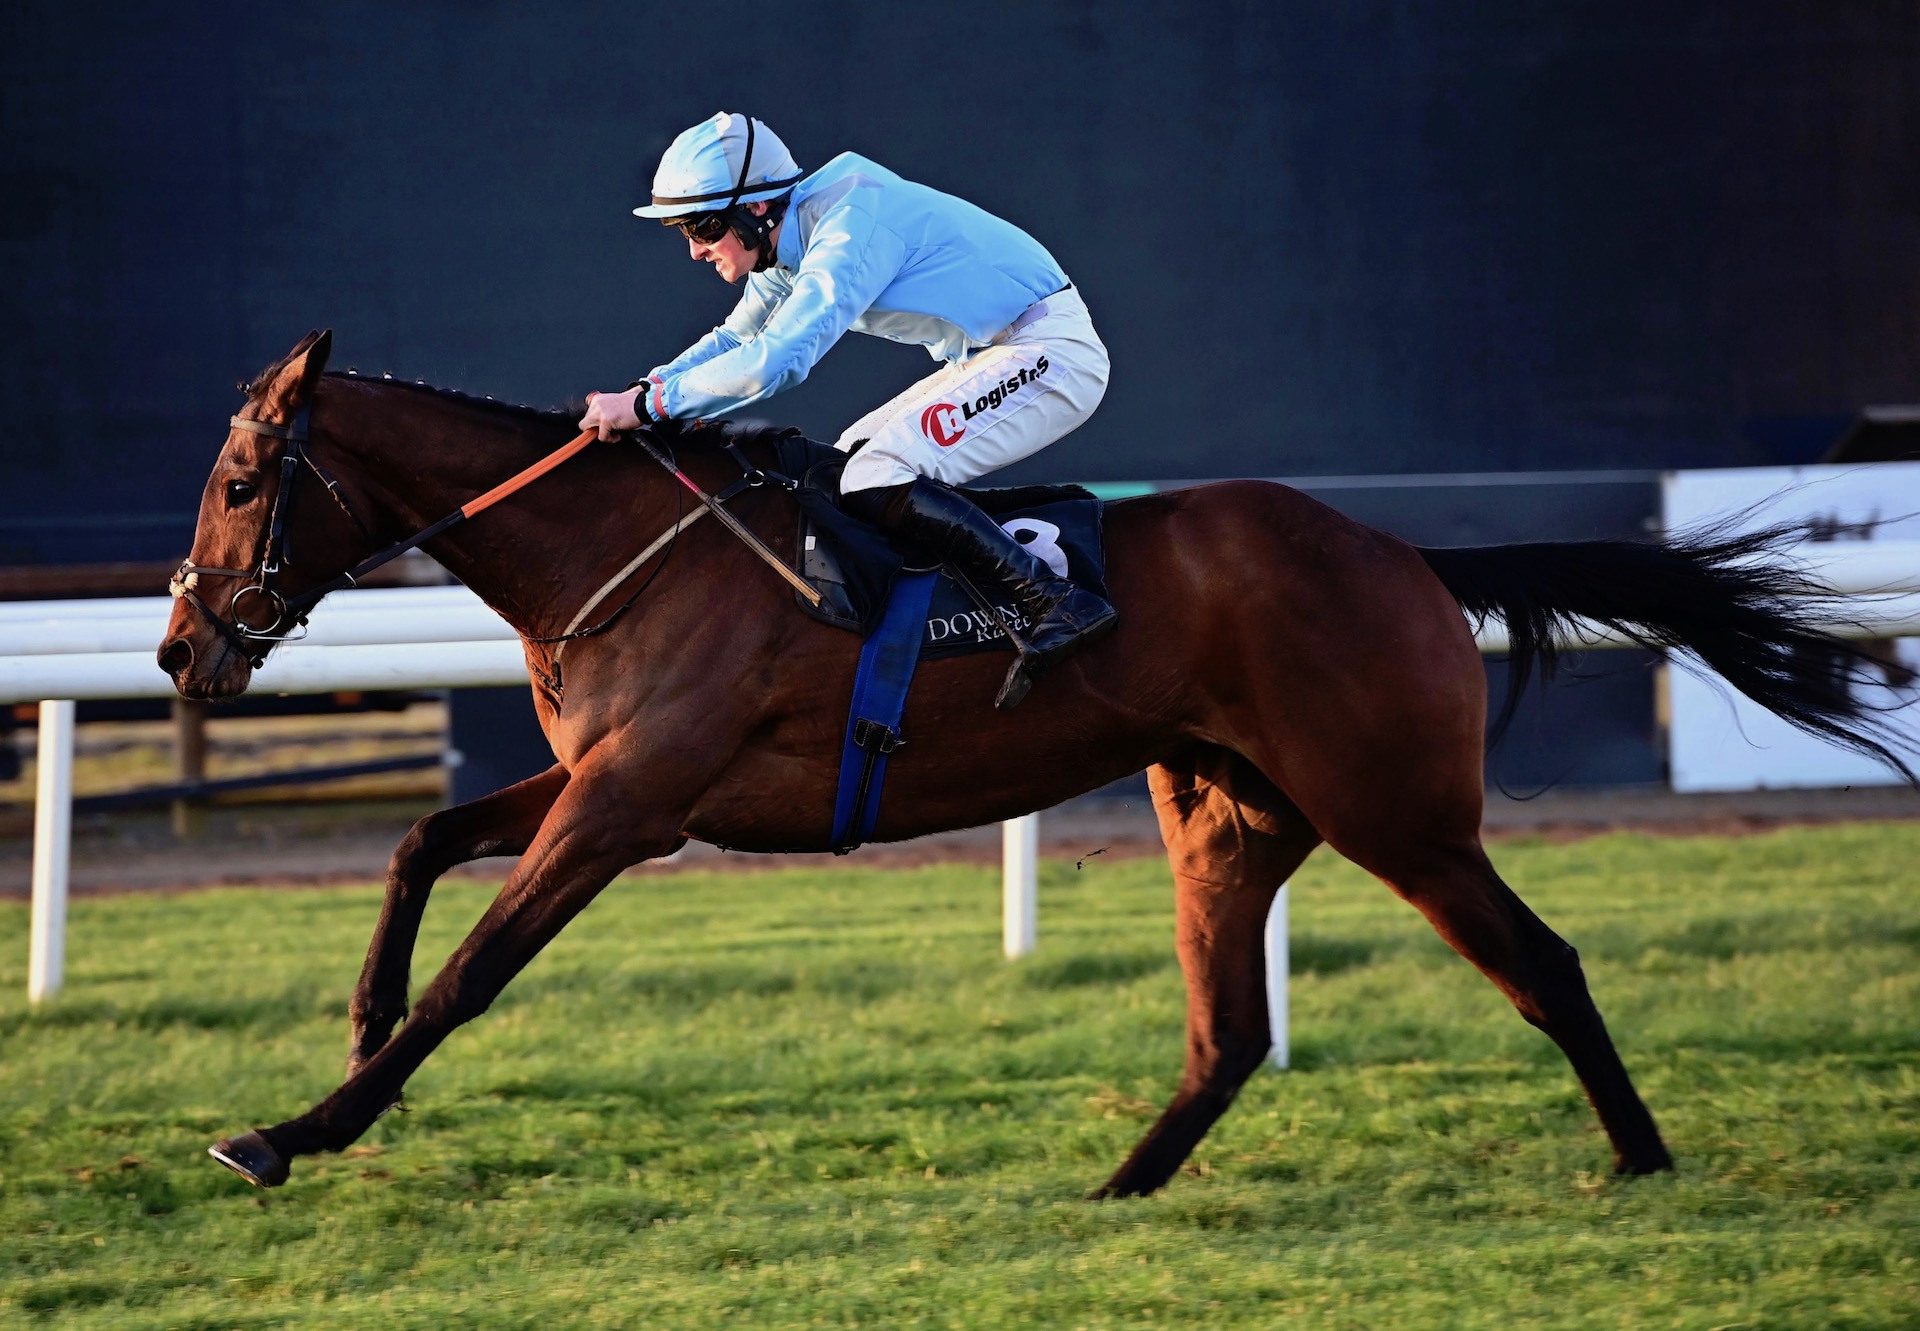
{"label": "jockey in light blue silks, white breeches and black boots", "polygon": [[927,348],[943,367],[851,424],[843,507],[1012,599],[1025,680],[1114,626],[1114,607],[1056,576],[952,486],[1037,453],[1092,415],[1106,348],[1054,257],[1012,223],[841,154],[803,173],[747,115],[714,115],[660,157],[653,202],[689,257],[747,290],[726,323],[626,392],[588,396],[582,428],[705,419],[793,388],[854,328]]}

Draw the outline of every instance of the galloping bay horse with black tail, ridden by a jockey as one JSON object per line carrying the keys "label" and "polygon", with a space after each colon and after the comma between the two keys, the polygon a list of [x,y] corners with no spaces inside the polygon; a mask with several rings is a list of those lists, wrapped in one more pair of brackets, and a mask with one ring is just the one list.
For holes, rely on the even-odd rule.
{"label": "galloping bay horse with black tail, ridden by a jockey", "polygon": [[[284,601],[311,601],[371,549],[572,434],[566,415],[324,375],[330,346],[307,334],[253,380],[207,478],[159,647],[184,697],[242,693],[284,634]],[[678,446],[680,465],[716,490],[739,467],[699,434],[662,426],[649,442]],[[766,463],[764,440],[732,438]],[[296,484],[305,471],[317,482]],[[630,444],[597,444],[426,542],[551,684],[534,688],[534,705],[557,761],[415,824],[353,989],[346,1081],[296,1118],[221,1141],[223,1164],[276,1185],[298,1156],[346,1149],[628,866],[689,837],[829,849],[860,643],[797,613],[718,522],[685,528],[634,572],[620,592],[632,609],[564,643],[555,680],[553,640],[682,503],[676,480]],[[735,507],[762,540],[791,540],[785,494],[751,490]],[[1261,926],[1321,841],[1427,916],[1561,1047],[1619,1174],[1672,1168],[1574,949],[1480,845],[1486,676],[1469,617],[1505,618],[1515,690],[1551,668],[1553,634],[1584,617],[1692,651],[1774,713],[1910,778],[1834,676],[1832,653],[1849,649],[1814,628],[1822,590],[1757,561],[1759,538],[1419,549],[1246,480],[1114,503],[1106,544],[1117,630],[1020,711],[993,707],[998,653],[922,665],[874,835],[989,824],[1146,768],[1173,870],[1187,1062],[1165,1112],[1094,1197],[1162,1187],[1267,1054]],[[409,1006],[434,880],[486,855],[518,862]]]}

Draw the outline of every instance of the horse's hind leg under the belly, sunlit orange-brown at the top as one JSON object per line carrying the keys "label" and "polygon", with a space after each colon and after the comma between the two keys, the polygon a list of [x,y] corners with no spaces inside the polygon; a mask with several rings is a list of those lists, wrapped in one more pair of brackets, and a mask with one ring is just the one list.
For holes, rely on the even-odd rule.
{"label": "horse's hind leg under the belly, sunlit orange-brown at the top", "polygon": [[1173,866],[1187,1070],[1160,1122],[1094,1197],[1142,1197],[1173,1177],[1273,1049],[1267,910],[1319,843],[1300,811],[1225,749],[1146,778]]}

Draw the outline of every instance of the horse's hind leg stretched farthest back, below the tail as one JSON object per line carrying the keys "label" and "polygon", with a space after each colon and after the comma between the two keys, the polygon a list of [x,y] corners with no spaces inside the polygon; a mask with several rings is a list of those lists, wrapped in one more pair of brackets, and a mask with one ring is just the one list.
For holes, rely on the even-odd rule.
{"label": "horse's hind leg stretched farthest back, below the tail", "polygon": [[1501,882],[1478,839],[1402,845],[1386,855],[1348,849],[1338,839],[1334,845],[1405,897],[1528,1024],[1561,1047],[1613,1143],[1615,1174],[1672,1168],[1653,1114],[1634,1091],[1586,989],[1580,955]]}

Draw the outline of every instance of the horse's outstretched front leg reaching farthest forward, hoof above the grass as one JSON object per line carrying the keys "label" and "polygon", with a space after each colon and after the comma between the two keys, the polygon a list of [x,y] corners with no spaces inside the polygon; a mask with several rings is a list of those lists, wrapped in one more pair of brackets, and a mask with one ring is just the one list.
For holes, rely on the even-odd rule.
{"label": "horse's outstretched front leg reaching farthest forward, hoof above the grass", "polygon": [[678,828],[685,809],[660,809],[651,791],[618,776],[595,780],[589,770],[574,770],[480,924],[420,993],[407,1024],[359,1072],[300,1118],[217,1143],[213,1158],[273,1187],[286,1181],[294,1156],[351,1145],[453,1028],[486,1012],[614,874],[674,851],[684,841]]}

